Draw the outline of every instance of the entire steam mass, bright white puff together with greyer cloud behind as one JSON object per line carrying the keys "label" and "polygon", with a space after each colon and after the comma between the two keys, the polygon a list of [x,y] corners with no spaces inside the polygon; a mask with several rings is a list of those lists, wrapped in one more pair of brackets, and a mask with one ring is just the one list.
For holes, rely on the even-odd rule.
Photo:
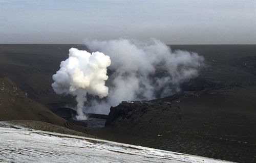
{"label": "entire steam mass, bright white puff together with greyer cloud behind", "polygon": [[[198,75],[198,69],[204,62],[204,58],[197,53],[172,51],[157,39],[147,42],[87,40],[86,46],[91,51],[109,55],[111,61],[101,52],[91,55],[87,51],[71,48],[69,59],[61,62],[60,70],[53,75],[55,82],[52,87],[56,93],[76,96],[77,119],[84,119],[83,110],[108,114],[110,107],[121,101],[172,95],[180,91],[182,82]],[[87,101],[88,94],[105,98],[96,97]],[[86,109],[83,108],[85,101]]]}

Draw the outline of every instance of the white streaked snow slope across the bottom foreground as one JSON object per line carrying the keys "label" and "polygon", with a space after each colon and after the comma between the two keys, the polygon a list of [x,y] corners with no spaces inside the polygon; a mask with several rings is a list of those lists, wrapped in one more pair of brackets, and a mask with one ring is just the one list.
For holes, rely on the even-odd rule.
{"label": "white streaked snow slope across the bottom foreground", "polygon": [[2,162],[227,162],[75,135],[0,127]]}

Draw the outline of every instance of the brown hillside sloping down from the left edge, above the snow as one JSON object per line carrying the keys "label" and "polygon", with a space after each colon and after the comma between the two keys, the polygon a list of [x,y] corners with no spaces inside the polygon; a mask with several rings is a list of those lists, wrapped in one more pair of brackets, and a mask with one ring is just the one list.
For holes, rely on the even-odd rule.
{"label": "brown hillside sloping down from the left edge, above the snow", "polygon": [[0,121],[35,120],[63,126],[65,119],[29,99],[7,77],[0,77]]}

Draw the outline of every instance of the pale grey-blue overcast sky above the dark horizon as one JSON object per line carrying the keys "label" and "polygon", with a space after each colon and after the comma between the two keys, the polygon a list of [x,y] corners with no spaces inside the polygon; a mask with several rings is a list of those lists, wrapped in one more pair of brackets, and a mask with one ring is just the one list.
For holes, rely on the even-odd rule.
{"label": "pale grey-blue overcast sky above the dark horizon", "polygon": [[0,43],[119,37],[155,37],[166,44],[256,44],[256,0],[0,0]]}

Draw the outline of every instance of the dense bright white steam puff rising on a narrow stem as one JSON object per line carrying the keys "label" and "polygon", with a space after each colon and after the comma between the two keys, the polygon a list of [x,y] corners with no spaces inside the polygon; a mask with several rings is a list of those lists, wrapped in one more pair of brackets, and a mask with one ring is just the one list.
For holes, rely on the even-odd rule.
{"label": "dense bright white steam puff rising on a narrow stem", "polygon": [[78,120],[86,119],[83,105],[87,101],[87,93],[103,98],[109,94],[105,86],[106,68],[110,66],[109,56],[101,52],[89,53],[76,48],[69,49],[69,58],[60,63],[60,69],[52,76],[53,90],[57,94],[76,96]]}

